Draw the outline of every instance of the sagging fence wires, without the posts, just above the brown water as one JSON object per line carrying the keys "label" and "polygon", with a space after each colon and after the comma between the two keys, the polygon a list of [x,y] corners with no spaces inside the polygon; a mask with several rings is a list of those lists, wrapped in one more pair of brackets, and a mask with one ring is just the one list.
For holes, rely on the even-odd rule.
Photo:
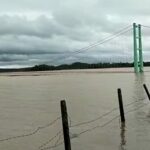
{"label": "sagging fence wires, without the posts, just above the brown water", "polygon": [[[132,106],[135,106],[135,108],[132,108]],[[132,113],[134,111],[137,111],[138,109],[141,109],[143,107],[147,106],[147,103],[142,103],[141,104],[141,99],[140,100],[136,100],[136,101],[133,101],[131,103],[128,103],[126,105],[124,105],[124,108],[128,108],[129,110],[127,110],[125,112],[125,114],[129,114],[129,113]],[[131,107],[131,108],[130,108]],[[97,118],[95,119],[91,119],[91,120],[87,120],[87,121],[83,121],[83,122],[78,122],[76,124],[72,124],[72,117],[70,115],[68,115],[68,118],[69,118],[69,128],[71,130],[70,132],[70,137],[71,137],[71,140],[72,139],[75,139],[76,137],[80,137],[81,135],[87,133],[87,132],[91,132],[97,128],[104,128],[105,126],[109,125],[110,123],[112,123],[114,120],[116,119],[119,119],[120,115],[117,114],[115,115],[114,117],[112,117],[111,119],[107,120],[106,122],[104,122],[103,124],[98,124],[96,126],[92,126],[92,127],[89,127],[87,129],[84,129],[78,133],[75,133],[76,136],[72,136],[72,128],[75,128],[75,127],[80,127],[80,126],[88,126],[89,124],[91,123],[94,123],[98,120],[101,120],[109,115],[112,114],[112,112],[116,112],[119,110],[119,107],[115,107],[113,108],[112,110],[102,114],[102,115],[99,115]],[[118,111],[119,113],[119,111]],[[56,122],[58,122],[59,120],[61,119],[61,116],[58,116],[56,119],[54,119],[53,121],[43,125],[43,126],[39,126],[37,127],[35,130],[31,131],[30,133],[26,133],[26,134],[21,134],[21,135],[18,135],[18,136],[12,136],[12,137],[8,137],[8,138],[2,138],[0,139],[0,144],[2,142],[7,142],[7,141],[10,141],[10,140],[17,140],[17,139],[20,139],[20,138],[25,138],[25,137],[29,137],[29,136],[33,136],[35,134],[37,134],[38,132],[40,132],[41,130],[43,129],[46,129],[46,128],[49,128],[49,127],[52,127],[55,125]],[[55,149],[57,148],[58,146],[62,145],[64,143],[64,140],[62,138],[63,136],[63,130],[59,130],[53,137],[47,139],[45,142],[43,142],[39,147],[38,147],[38,150],[49,150],[49,149]],[[51,144],[51,143],[54,143],[54,144]]]}

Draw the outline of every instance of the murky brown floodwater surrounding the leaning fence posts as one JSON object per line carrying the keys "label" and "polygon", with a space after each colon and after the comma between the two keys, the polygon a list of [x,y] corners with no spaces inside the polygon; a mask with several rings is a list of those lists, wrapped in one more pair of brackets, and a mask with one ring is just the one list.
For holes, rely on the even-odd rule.
{"label": "murky brown floodwater surrounding the leaning fence posts", "polygon": [[60,100],[65,99],[72,150],[148,150],[150,102],[143,83],[150,89],[150,72],[135,75],[131,69],[1,74],[0,149],[64,149]]}

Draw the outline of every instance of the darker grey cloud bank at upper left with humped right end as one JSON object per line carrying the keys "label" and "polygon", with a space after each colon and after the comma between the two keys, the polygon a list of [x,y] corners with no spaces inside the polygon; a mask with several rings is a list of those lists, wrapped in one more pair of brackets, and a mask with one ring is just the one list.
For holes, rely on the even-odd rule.
{"label": "darker grey cloud bank at upper left with humped right end", "polygon": [[[23,16],[0,16],[0,35],[26,35],[37,37],[51,37],[53,34],[61,34],[61,30],[55,22],[45,16],[39,16],[36,20],[28,20]],[[59,31],[60,30],[60,31]]]}

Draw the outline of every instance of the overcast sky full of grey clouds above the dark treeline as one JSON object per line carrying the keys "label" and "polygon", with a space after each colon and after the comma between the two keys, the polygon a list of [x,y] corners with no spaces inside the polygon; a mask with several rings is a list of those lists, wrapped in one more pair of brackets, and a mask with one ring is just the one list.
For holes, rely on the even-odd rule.
{"label": "overcast sky full of grey clouds above the dark treeline", "polygon": [[[131,60],[132,31],[73,52],[133,22],[150,26],[149,6],[148,0],[0,0],[0,67]],[[143,32],[148,41],[150,29]]]}

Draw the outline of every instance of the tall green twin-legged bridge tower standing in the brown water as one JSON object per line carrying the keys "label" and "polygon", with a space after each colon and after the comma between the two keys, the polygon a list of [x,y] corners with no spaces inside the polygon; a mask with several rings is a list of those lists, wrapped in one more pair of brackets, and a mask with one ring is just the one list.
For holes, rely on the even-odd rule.
{"label": "tall green twin-legged bridge tower standing in the brown water", "polygon": [[134,72],[143,72],[141,25],[133,23]]}

